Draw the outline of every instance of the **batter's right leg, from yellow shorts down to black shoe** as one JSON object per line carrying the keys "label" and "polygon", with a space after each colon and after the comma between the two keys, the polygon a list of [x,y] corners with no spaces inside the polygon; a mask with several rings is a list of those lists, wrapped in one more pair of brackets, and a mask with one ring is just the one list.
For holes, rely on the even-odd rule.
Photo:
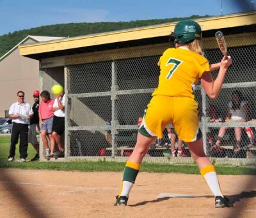
{"label": "batter's right leg, from yellow shorts down to black shoe", "polygon": [[176,133],[179,135],[180,140],[186,142],[186,145],[188,145],[191,156],[198,164],[201,175],[205,178],[214,196],[216,196],[216,202],[218,202],[216,203],[216,207],[229,207],[226,202],[227,200],[225,200],[221,192],[215,168],[204,152],[197,103],[193,99],[184,98],[182,99],[182,104],[178,99],[175,105],[177,106],[175,107],[173,126],[175,127]]}

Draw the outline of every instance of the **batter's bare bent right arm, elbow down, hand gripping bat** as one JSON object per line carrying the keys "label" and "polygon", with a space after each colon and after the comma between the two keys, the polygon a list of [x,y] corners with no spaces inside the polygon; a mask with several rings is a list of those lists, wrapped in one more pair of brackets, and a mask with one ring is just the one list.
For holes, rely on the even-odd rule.
{"label": "batter's bare bent right arm, elbow down, hand gripping bat", "polygon": [[206,71],[203,73],[201,78],[201,84],[209,98],[216,99],[218,97],[218,94],[220,93],[222,84],[224,82],[228,66],[230,66],[230,64],[232,64],[231,57],[228,56],[228,59],[225,59],[225,57],[223,57],[220,64],[220,71],[216,80],[213,80],[211,71]]}

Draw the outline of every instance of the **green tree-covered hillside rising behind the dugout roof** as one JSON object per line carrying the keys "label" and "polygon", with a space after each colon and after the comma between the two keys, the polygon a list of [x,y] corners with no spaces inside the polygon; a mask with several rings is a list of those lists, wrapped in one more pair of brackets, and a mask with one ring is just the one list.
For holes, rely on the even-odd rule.
{"label": "green tree-covered hillside rising behind the dugout roof", "polygon": [[[205,15],[204,17],[210,17]],[[13,33],[4,34],[0,36],[0,57],[4,55],[8,50],[17,45],[26,36],[59,36],[59,37],[72,37],[83,36],[93,33],[104,33],[109,31],[116,31],[121,29],[130,29],[134,27],[143,27],[147,25],[164,24],[168,22],[175,22],[178,20],[184,20],[187,18],[196,19],[204,18],[202,16],[193,15],[191,17],[180,18],[166,18],[155,20],[136,20],[130,22],[97,22],[97,23],[70,23],[70,24],[55,24],[45,25],[42,27],[36,27],[32,29],[24,29],[21,31],[15,31]]]}

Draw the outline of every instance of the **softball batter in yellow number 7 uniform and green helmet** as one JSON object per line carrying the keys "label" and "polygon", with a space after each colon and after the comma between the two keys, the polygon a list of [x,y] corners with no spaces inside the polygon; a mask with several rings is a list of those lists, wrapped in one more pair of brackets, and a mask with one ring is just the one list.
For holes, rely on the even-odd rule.
{"label": "softball batter in yellow number 7 uniform and green helmet", "polygon": [[[223,57],[221,62],[210,66],[202,55],[200,25],[193,20],[178,22],[171,36],[175,48],[168,48],[159,59],[159,85],[152,94],[135,148],[125,164],[124,178],[115,205],[127,205],[141,161],[150,144],[156,137],[163,138],[164,127],[172,124],[180,140],[188,145],[202,177],[214,194],[215,207],[231,207],[221,192],[214,166],[204,153],[194,87],[200,80],[209,98],[217,98],[232,59],[230,56],[227,59]],[[211,70],[214,69],[220,69],[216,80],[211,76]]]}

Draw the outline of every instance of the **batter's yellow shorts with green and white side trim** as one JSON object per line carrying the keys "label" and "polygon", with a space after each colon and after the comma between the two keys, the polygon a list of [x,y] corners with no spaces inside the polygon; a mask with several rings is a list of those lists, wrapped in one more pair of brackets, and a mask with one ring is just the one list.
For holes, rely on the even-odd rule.
{"label": "batter's yellow shorts with green and white side trim", "polygon": [[163,138],[163,130],[170,124],[180,140],[194,142],[200,139],[198,103],[188,97],[153,96],[139,128],[140,133]]}

